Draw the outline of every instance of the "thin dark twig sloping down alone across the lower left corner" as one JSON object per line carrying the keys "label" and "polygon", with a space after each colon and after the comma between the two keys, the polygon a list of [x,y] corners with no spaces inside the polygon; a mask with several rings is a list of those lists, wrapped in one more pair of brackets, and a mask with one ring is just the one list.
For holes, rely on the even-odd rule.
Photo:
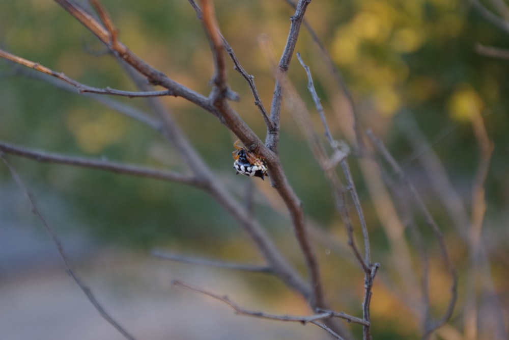
{"label": "thin dark twig sloping down alone across the lower left corner", "polygon": [[11,171],[12,177],[14,178],[14,181],[18,185],[19,189],[26,195],[26,197],[29,199],[32,213],[39,219],[39,221],[44,225],[44,228],[48,232],[49,236],[51,237],[51,241],[55,245],[56,249],[58,250],[60,254],[60,258],[62,259],[64,266],[67,270],[67,273],[72,277],[74,282],[79,286],[81,291],[87,296],[89,301],[92,303],[94,308],[99,312],[101,317],[103,317],[110,325],[115,327],[125,338],[129,340],[134,340],[134,337],[129,334],[115,319],[113,319],[109,313],[103,308],[101,303],[96,299],[95,295],[92,293],[90,288],[86,286],[81,279],[76,275],[76,273],[73,271],[71,263],[69,261],[69,257],[67,256],[67,253],[64,250],[64,246],[62,245],[62,242],[60,242],[60,239],[56,236],[55,232],[53,231],[53,228],[51,225],[44,219],[41,212],[39,211],[39,208],[37,207],[37,204],[35,202],[34,196],[32,193],[26,188],[26,186],[23,183],[23,180],[21,177],[17,174],[17,172],[14,170],[14,167],[11,165],[11,163],[7,160],[6,156],[3,154],[2,151],[0,151],[0,158],[2,158],[2,161],[4,161],[5,165],[9,170]]}

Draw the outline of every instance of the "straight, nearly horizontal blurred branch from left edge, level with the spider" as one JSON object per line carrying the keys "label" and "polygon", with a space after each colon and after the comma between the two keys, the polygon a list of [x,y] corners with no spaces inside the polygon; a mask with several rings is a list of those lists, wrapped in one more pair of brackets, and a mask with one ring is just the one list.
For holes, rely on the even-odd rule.
{"label": "straight, nearly horizontal blurred branch from left edge, level with the spider", "polygon": [[110,162],[106,160],[97,160],[90,158],[82,158],[76,156],[68,156],[60,153],[49,153],[41,150],[25,148],[14,144],[0,141],[0,151],[32,159],[42,163],[66,164],[83,168],[92,168],[115,172],[118,174],[126,174],[138,177],[149,177],[154,179],[162,179],[194,187],[203,187],[203,182],[195,177],[187,176],[175,172],[163,171],[154,168],[140,167],[136,165]]}

